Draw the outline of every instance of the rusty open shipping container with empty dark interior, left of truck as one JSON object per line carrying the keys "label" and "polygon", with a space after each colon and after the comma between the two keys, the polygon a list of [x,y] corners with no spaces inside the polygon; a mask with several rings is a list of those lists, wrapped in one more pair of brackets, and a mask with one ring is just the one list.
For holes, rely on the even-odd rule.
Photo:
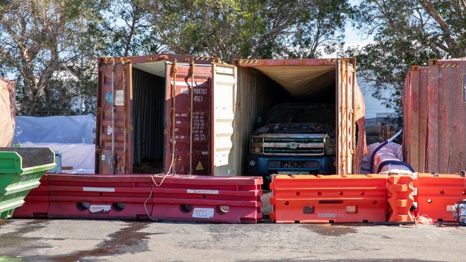
{"label": "rusty open shipping container with empty dark interior, left of truck", "polygon": [[149,163],[155,169],[142,172],[212,174],[212,138],[224,136],[213,124],[233,121],[231,102],[220,105],[220,98],[234,98],[234,66],[214,61],[174,54],[100,58],[96,172],[140,173],[133,168]]}

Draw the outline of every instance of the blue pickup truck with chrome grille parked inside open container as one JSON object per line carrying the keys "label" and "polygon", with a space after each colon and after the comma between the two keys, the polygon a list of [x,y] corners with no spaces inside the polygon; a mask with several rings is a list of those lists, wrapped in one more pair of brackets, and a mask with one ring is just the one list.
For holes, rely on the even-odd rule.
{"label": "blue pickup truck with chrome grille parked inside open container", "polygon": [[253,132],[248,171],[270,174],[336,174],[335,105],[287,103],[276,105]]}

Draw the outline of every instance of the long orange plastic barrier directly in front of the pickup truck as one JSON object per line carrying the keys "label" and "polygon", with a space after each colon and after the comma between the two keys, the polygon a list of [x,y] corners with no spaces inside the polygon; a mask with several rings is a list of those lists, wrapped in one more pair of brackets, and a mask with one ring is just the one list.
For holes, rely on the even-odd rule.
{"label": "long orange plastic barrier directly in front of the pickup truck", "polygon": [[276,175],[270,218],[277,223],[386,222],[386,175]]}

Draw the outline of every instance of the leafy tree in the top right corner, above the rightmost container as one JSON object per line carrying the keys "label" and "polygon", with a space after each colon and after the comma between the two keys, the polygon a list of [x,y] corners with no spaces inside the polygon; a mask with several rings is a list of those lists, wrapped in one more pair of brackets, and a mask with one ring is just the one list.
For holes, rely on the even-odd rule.
{"label": "leafy tree in the top right corner, above the rightmost container", "polygon": [[357,57],[359,78],[371,83],[374,97],[399,114],[412,65],[466,56],[465,1],[365,0],[352,18],[374,43],[347,54]]}

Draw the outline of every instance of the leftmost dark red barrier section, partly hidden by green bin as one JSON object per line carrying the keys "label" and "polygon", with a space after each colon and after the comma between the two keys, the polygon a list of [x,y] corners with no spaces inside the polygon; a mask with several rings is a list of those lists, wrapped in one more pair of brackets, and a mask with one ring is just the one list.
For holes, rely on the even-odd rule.
{"label": "leftmost dark red barrier section, partly hidden by green bin", "polygon": [[47,218],[49,211],[49,191],[47,174],[40,179],[40,185],[32,189],[24,198],[23,206],[13,212],[13,218]]}

